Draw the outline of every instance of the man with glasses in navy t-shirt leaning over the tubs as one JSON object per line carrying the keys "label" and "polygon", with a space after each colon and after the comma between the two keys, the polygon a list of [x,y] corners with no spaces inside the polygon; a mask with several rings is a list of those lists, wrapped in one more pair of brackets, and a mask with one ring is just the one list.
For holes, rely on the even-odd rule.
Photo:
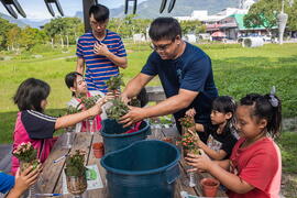
{"label": "man with glasses in navy t-shirt leaning over the tubs", "polygon": [[218,90],[209,56],[182,40],[180,25],[173,18],[155,19],[148,33],[154,52],[121,96],[128,101],[158,75],[167,99],[155,106],[132,108],[121,118],[121,123],[131,125],[146,118],[173,113],[180,130],[178,119],[189,108],[196,109],[197,123],[210,122],[211,103],[218,97]]}

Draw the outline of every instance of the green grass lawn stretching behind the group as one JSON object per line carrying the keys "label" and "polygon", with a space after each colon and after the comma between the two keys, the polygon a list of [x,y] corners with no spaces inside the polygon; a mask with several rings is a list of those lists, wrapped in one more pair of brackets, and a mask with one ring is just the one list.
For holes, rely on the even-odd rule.
{"label": "green grass lawn stretching behind the group", "polygon": [[[125,46],[129,67],[121,72],[128,81],[141,70],[151,50],[148,44],[127,43]],[[297,44],[266,44],[258,48],[242,48],[239,44],[199,46],[212,59],[215,80],[220,95],[233,96],[238,100],[250,92],[267,94],[272,86],[276,86],[277,96],[283,101],[283,116],[297,117]],[[64,76],[75,69],[76,62],[75,58],[61,57],[74,55],[75,47],[72,46],[66,53],[44,51],[34,54],[42,54],[43,57],[33,58],[32,54],[26,53],[13,56],[12,61],[0,61],[0,143],[12,142],[18,109],[11,98],[24,79],[35,77],[51,85],[47,107],[50,114],[63,114],[63,109],[70,98]],[[0,53],[1,56],[6,56],[4,53]],[[157,85],[157,78],[150,82],[150,86]],[[283,133],[278,140],[284,173],[297,174],[296,143],[296,132]]]}

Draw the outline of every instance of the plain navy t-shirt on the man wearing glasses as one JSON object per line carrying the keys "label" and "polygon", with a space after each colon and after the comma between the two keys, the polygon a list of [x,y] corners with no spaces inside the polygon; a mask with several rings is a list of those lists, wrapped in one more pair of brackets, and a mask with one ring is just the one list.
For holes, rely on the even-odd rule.
{"label": "plain navy t-shirt on the man wearing glasses", "polygon": [[176,121],[184,117],[189,108],[195,108],[196,122],[210,122],[211,103],[218,97],[218,90],[213,81],[211,61],[202,50],[186,43],[184,53],[176,59],[162,59],[153,52],[141,73],[158,75],[167,98],[178,95],[180,88],[199,92],[188,108],[174,113]]}

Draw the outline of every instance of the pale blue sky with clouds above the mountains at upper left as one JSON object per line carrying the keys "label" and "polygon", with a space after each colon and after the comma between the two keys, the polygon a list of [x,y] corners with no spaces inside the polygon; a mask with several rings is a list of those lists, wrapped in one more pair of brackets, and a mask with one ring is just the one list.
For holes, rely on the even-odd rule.
{"label": "pale blue sky with clouds above the mountains at upper left", "polygon": [[[145,1],[139,0],[138,3]],[[107,6],[108,8],[118,8],[124,4],[124,0],[98,0],[99,3]],[[44,0],[19,0],[19,3],[22,6],[24,12],[26,13],[26,18],[31,20],[44,20],[51,19],[52,15],[48,13]],[[63,8],[64,14],[67,16],[73,16],[77,11],[82,10],[82,0],[59,0],[59,3]],[[52,4],[55,13],[58,12],[55,9],[55,4]],[[8,11],[4,9],[3,4],[0,3],[0,12],[8,14]],[[20,16],[22,18],[22,16]]]}

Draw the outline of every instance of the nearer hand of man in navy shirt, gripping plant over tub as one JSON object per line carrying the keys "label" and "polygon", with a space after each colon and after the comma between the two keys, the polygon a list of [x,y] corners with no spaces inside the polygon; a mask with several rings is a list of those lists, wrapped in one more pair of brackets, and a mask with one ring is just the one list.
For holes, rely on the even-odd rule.
{"label": "nearer hand of man in navy shirt, gripping plant over tub", "polygon": [[120,122],[124,124],[123,128],[130,127],[133,123],[136,123],[143,119],[145,119],[145,110],[143,108],[129,107],[129,113],[121,117]]}

